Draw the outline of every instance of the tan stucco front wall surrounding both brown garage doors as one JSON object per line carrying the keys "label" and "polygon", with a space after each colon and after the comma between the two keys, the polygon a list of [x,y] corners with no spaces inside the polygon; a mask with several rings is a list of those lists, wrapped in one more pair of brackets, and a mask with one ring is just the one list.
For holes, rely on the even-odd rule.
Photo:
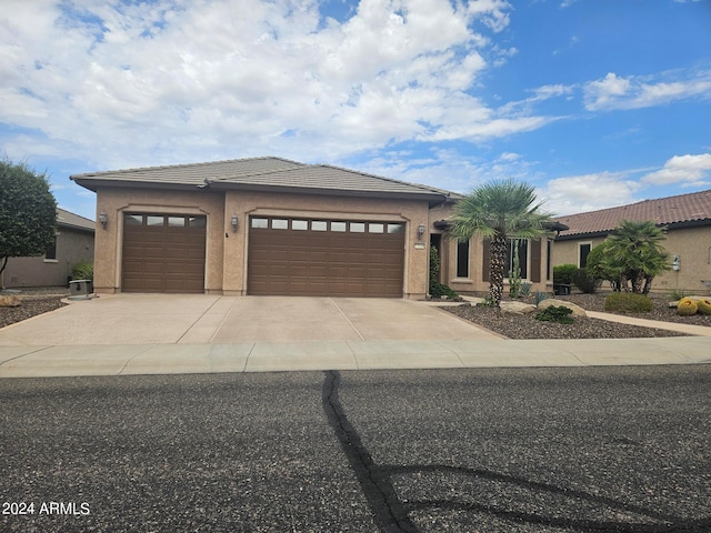
{"label": "tan stucco front wall surrounding both brown garage doors", "polygon": [[[427,201],[399,201],[266,192],[224,193],[154,191],[101,188],[97,192],[99,213],[108,214],[107,230],[97,230],[94,290],[111,293],[121,289],[121,242],[124,212],[204,214],[208,218],[206,292],[247,293],[247,251],[250,215],[310,217],[334,220],[399,221],[407,225],[403,294],[421,299],[429,274],[429,232],[418,241],[418,227],[429,225]],[[231,218],[238,217],[238,230]]]}

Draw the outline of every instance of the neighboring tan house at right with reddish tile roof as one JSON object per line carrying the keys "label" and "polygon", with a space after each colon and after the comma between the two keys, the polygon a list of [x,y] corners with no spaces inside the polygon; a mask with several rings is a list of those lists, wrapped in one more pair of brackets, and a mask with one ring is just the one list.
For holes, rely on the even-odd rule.
{"label": "neighboring tan house at right with reddish tile roof", "polygon": [[668,230],[662,244],[671,255],[674,270],[654,278],[652,291],[711,291],[711,190],[644,200],[557,220],[569,229],[555,240],[553,264],[584,266],[590,250],[604,241],[620,221],[653,221]]}

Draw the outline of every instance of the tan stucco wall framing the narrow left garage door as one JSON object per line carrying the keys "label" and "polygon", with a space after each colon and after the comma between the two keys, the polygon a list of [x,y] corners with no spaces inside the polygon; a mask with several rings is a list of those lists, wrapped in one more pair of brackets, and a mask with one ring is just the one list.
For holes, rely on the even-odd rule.
{"label": "tan stucco wall framing the narrow left garage door", "polygon": [[102,211],[108,215],[108,224],[106,230],[100,224],[97,229],[94,291],[120,291],[123,213],[143,212],[207,215],[206,292],[221,292],[222,240],[227,231],[221,193],[100,188],[97,191],[97,220]]}

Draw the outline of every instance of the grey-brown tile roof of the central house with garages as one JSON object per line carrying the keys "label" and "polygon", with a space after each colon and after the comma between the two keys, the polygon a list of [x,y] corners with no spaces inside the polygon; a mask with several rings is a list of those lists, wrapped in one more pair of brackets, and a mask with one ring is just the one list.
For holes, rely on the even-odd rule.
{"label": "grey-brown tile roof of the central house with garages", "polygon": [[367,174],[327,164],[306,164],[280,158],[253,158],[211,163],[150,167],[71,177],[94,190],[102,183],[178,185],[211,189],[283,190],[330,194],[382,194],[443,200],[449,191]]}

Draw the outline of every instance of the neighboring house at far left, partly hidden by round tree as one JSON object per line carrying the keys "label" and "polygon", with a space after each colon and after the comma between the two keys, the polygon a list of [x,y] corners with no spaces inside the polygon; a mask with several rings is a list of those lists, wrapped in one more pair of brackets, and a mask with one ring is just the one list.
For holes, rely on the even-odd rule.
{"label": "neighboring house at far left, partly hidden by round tree", "polygon": [[96,223],[63,209],[57,210],[57,232],[44,255],[10,258],[0,284],[7,289],[62,286],[74,264],[93,261]]}

